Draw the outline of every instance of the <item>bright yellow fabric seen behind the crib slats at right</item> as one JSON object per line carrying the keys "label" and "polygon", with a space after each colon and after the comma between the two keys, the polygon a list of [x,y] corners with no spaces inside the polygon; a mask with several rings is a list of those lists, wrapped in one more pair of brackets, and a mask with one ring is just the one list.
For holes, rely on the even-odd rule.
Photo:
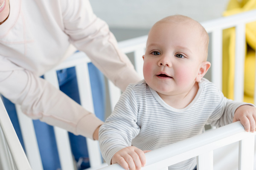
{"label": "bright yellow fabric seen behind the crib slats at right", "polygon": [[[230,0],[223,16],[256,9],[256,0]],[[256,22],[246,25],[246,57],[244,68],[244,102],[253,102],[255,84]],[[223,30],[223,87],[224,96],[234,99],[235,28]]]}

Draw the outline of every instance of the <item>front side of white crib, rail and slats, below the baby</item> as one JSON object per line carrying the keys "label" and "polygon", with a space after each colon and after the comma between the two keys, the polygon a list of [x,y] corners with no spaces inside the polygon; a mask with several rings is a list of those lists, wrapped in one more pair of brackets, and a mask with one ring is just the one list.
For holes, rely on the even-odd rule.
{"label": "front side of white crib, rail and slats, below the baby", "polygon": [[[245,132],[240,122],[235,122],[166,147],[145,153],[146,164],[142,170],[162,170],[178,162],[197,157],[199,170],[213,169],[213,150],[239,141],[239,170],[253,170],[254,136]],[[123,170],[112,164],[100,170]]]}

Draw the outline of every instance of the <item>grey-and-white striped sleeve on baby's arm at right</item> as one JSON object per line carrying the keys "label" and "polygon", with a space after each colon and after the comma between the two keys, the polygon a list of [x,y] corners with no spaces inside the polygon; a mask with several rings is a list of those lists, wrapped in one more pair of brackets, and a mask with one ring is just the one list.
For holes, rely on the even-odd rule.
{"label": "grey-and-white striped sleeve on baby's arm at right", "polygon": [[250,103],[236,102],[231,99],[227,99],[221,91],[219,91],[219,97],[219,103],[207,122],[207,124],[211,124],[216,127],[232,123],[236,109],[239,108],[239,106],[252,105]]}

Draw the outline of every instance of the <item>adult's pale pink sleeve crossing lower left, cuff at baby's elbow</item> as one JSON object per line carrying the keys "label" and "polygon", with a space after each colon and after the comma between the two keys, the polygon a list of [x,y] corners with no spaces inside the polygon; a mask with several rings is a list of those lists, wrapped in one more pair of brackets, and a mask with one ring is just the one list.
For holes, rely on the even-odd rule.
{"label": "adult's pale pink sleeve crossing lower left, cuff at baby's elbow", "polygon": [[93,138],[102,125],[94,114],[70,99],[49,82],[0,56],[0,94],[21,105],[23,113],[76,135]]}

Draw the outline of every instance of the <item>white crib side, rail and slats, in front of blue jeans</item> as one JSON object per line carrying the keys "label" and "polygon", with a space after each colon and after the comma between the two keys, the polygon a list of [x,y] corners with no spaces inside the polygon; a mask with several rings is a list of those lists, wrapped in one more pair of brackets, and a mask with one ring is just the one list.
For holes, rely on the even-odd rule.
{"label": "white crib side, rail and slats, in front of blue jeans", "polygon": [[[93,99],[91,94],[90,87],[90,78],[87,64],[90,62],[90,59],[83,53],[77,52],[68,58],[61,65],[56,68],[48,71],[44,74],[44,78],[47,79],[52,85],[56,88],[59,88],[58,77],[56,74],[57,70],[75,67],[76,76],[78,81],[78,88],[80,93],[81,105],[94,113],[93,108]],[[32,119],[25,116],[19,105],[16,105],[17,115],[19,117],[20,128],[23,132],[24,144],[26,147],[26,155],[29,159],[31,167],[35,170],[43,170],[41,156],[37,144],[37,139],[35,136],[34,125]],[[58,155],[60,158],[61,169],[62,170],[75,170],[74,160],[72,156],[72,151],[70,148],[70,141],[68,133],[66,130],[59,127],[54,127],[56,143],[58,147]],[[90,167],[94,170],[102,166],[102,158],[99,152],[99,144],[97,141],[87,139],[88,154],[90,157]]]}

